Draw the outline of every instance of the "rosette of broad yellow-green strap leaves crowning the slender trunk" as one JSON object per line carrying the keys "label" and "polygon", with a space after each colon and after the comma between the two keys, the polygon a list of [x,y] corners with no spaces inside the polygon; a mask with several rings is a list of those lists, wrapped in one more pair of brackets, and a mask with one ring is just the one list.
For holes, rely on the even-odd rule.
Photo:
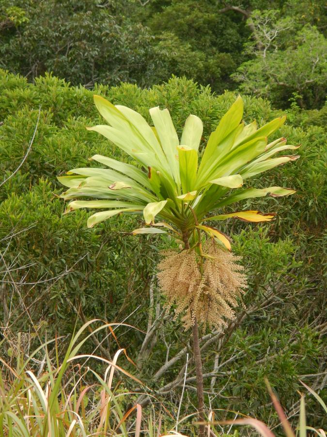
{"label": "rosette of broad yellow-green strap leaves crowning the slender trunk", "polygon": [[[173,232],[187,244],[197,243],[198,233],[194,231],[200,230],[231,250],[228,238],[205,222],[231,217],[270,221],[274,214],[238,211],[210,217],[210,211],[243,199],[295,193],[279,186],[241,188],[245,179],[298,158],[297,155],[272,158],[279,151],[297,148],[286,145],[285,138],[267,143],[267,137],[280,128],[285,117],[276,118],[260,129],[255,121],[245,125],[241,97],[210,135],[200,163],[203,126],[195,115],[187,118],[179,141],[167,109],[150,109],[154,122],[154,127],[150,127],[130,108],[114,106],[100,96],[94,96],[94,102],[109,125],[87,129],[104,135],[138,161],[140,167],[94,155],[91,160],[109,168],[75,168],[69,171],[69,176],[58,178],[69,187],[62,193],[63,199],[96,199],[74,200],[68,204],[68,211],[84,207],[104,210],[88,219],[89,227],[120,213],[143,214],[145,224],[150,226],[136,229],[133,234]],[[156,217],[163,221],[156,223]]]}

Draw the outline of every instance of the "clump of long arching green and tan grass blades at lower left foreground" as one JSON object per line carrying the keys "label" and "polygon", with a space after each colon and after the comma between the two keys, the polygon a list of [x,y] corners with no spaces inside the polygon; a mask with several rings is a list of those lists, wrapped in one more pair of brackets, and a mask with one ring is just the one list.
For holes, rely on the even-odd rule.
{"label": "clump of long arching green and tan grass blades at lower left foreground", "polygon": [[[60,338],[48,340],[27,359],[18,352],[14,367],[0,358],[1,437],[140,436],[141,406],[134,404],[125,411],[125,400],[131,393],[127,388],[117,390],[120,384],[114,382],[116,371],[126,377],[125,381],[130,379],[143,386],[117,365],[125,350],[119,349],[111,361],[94,353],[80,353],[93,335],[85,335],[85,330],[94,321],[85,323],[72,337],[61,362]],[[112,332],[114,325],[118,324],[104,324],[93,333],[104,329]],[[42,354],[43,360],[38,360]],[[101,364],[102,374],[93,370],[99,367],[96,363]]]}

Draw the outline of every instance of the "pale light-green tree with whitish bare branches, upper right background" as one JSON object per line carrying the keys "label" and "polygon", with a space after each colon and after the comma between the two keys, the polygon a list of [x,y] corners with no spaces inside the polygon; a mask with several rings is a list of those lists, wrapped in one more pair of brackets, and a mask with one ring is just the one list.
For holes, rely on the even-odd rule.
{"label": "pale light-green tree with whitish bare branches, upper right background", "polygon": [[[305,26],[294,36],[294,29],[287,27],[289,19],[285,18],[270,23],[267,26],[270,29],[262,30],[262,21],[269,23],[271,17],[271,11],[269,15],[257,13],[257,21],[252,20],[261,32],[256,35],[260,51],[254,60],[242,64],[234,74],[234,79],[241,83],[240,91],[272,97],[281,107],[288,106],[293,97],[301,108],[321,106],[325,101],[327,82],[326,38],[311,26]],[[286,33],[288,43],[279,42],[278,37],[271,41],[269,30],[272,34]],[[283,45],[285,50],[278,50]]]}

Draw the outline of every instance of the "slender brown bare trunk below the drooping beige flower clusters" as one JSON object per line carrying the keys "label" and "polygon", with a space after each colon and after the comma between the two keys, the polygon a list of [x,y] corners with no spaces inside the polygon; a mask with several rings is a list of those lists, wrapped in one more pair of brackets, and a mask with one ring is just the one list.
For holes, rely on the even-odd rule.
{"label": "slender brown bare trunk below the drooping beige flower clusters", "polygon": [[[196,369],[196,385],[197,385],[197,394],[198,394],[198,412],[199,412],[199,420],[203,422],[204,420],[204,394],[203,394],[203,373],[202,373],[202,361],[201,361],[201,352],[199,345],[199,328],[198,321],[195,318],[194,324],[192,326],[192,334],[193,334],[193,353],[194,353],[194,361],[195,361],[195,369]],[[199,426],[199,437],[204,437],[204,424]]]}

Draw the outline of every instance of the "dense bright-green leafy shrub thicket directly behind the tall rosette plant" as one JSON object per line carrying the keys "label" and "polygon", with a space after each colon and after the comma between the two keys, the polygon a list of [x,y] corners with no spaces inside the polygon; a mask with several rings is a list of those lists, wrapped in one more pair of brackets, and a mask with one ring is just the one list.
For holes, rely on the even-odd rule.
{"label": "dense bright-green leafy shrub thicket directly behind the tall rosette plant", "polygon": [[[134,218],[114,218],[88,230],[88,213],[63,215],[64,205],[56,197],[61,189],[56,176],[87,166],[95,152],[127,159],[101,136],[85,129],[98,120],[94,92],[146,118],[149,107],[167,107],[179,134],[188,114],[196,114],[203,120],[203,141],[235,99],[233,92],[215,96],[208,87],[185,78],[173,77],[148,90],[121,84],[111,88],[99,85],[89,91],[49,75],[28,84],[26,79],[0,70],[0,172],[5,178],[13,174],[28,150],[41,105],[31,151],[19,171],[0,188],[0,318],[1,326],[10,327],[1,328],[4,336],[10,331],[15,337],[28,329],[31,342],[36,341],[36,333],[44,338],[46,330],[48,336],[55,332],[67,336],[83,315],[110,321],[128,318],[128,323],[146,330],[149,284],[157,257],[154,237],[121,234],[119,229],[137,227]],[[268,101],[245,96],[246,122],[256,118],[262,125],[279,114]],[[249,274],[248,310],[242,323],[203,351],[205,374],[211,375],[216,356],[221,365],[216,381],[211,381],[211,376],[205,379],[206,396],[211,397],[213,407],[240,410],[270,420],[270,424],[275,423],[275,416],[270,417],[265,375],[278,387],[283,406],[291,411],[299,375],[318,374],[302,377],[319,388],[319,373],[323,372],[324,131],[313,123],[308,129],[304,123],[302,127],[286,124],[277,133],[282,135],[290,144],[302,144],[298,149],[301,158],[293,166],[267,172],[255,185],[293,187],[298,192],[278,202],[271,197],[254,202],[256,209],[278,213],[273,226],[247,225],[245,229],[243,223],[228,225],[229,229],[232,226],[234,250],[243,255]],[[248,206],[242,202],[239,208]],[[154,308],[163,303],[158,293],[154,300],[153,318]],[[162,306],[157,308],[158,315]],[[164,392],[163,387],[174,381],[185,364],[189,345],[188,336],[176,329],[170,316],[158,320],[146,360],[138,361],[144,334],[127,331],[120,334],[119,342],[138,362],[143,381],[163,399],[159,390]],[[96,336],[97,341],[103,338]],[[93,342],[87,349],[97,345],[94,338]],[[101,353],[112,353],[116,347],[110,349],[107,340],[103,346]],[[171,359],[184,347],[180,358],[154,377],[166,356]],[[130,370],[134,371],[133,366]],[[187,382],[185,410],[194,395],[193,382]],[[215,400],[211,383],[220,392]],[[179,388],[167,390],[171,403],[178,406]],[[310,413],[310,402],[308,410]],[[318,414],[311,417],[312,425],[314,420],[319,422]]]}

